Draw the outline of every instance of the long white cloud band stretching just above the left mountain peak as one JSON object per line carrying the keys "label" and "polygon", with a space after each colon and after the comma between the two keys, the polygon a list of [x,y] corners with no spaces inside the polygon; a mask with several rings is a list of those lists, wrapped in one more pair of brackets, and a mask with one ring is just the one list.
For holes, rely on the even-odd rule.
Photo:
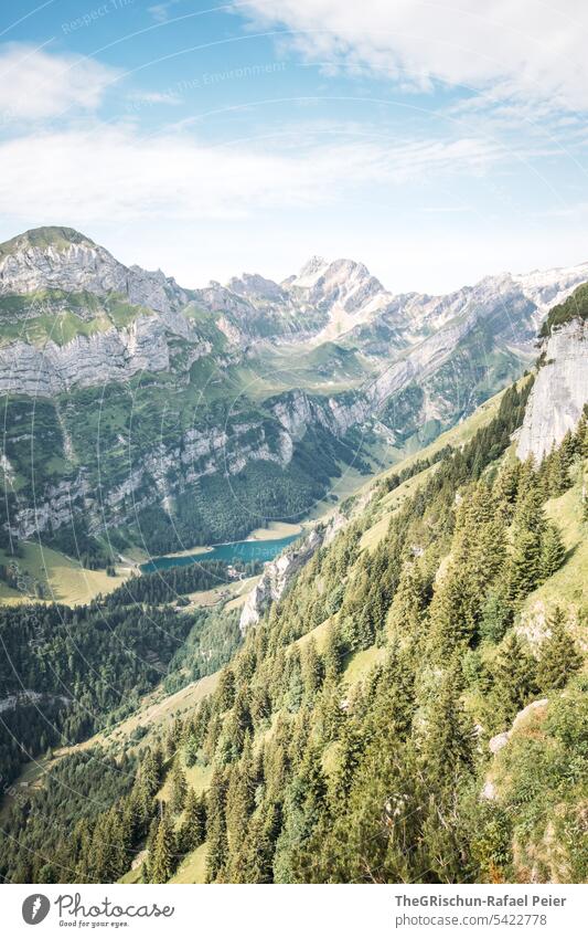
{"label": "long white cloud band stretching just above the left mountain peak", "polygon": [[263,146],[212,147],[171,133],[141,138],[132,127],[106,125],[25,135],[0,146],[0,212],[29,221],[68,211],[76,224],[237,219],[268,208],[313,209],[373,183],[479,175],[502,156],[467,138],[304,147],[300,137],[291,150]]}

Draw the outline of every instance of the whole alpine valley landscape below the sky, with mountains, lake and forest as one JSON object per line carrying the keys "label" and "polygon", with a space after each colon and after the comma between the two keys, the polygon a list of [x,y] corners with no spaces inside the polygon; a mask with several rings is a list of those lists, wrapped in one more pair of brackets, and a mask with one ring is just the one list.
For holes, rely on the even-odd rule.
{"label": "whole alpine valley landscape below the sky, with mountains, lake and forest", "polygon": [[582,278],[0,247],[2,876],[587,875]]}

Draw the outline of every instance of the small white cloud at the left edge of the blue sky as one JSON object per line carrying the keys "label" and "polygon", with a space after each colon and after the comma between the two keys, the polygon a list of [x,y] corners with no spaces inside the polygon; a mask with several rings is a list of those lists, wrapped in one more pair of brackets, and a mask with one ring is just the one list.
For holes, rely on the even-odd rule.
{"label": "small white cloud at the left edge of the blue sky", "polygon": [[51,55],[21,43],[0,46],[0,115],[29,122],[95,110],[117,74],[78,55]]}

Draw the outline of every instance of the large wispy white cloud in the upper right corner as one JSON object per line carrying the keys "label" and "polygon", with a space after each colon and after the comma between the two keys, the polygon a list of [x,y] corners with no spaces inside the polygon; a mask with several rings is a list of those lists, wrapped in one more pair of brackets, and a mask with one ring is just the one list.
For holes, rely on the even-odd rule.
{"label": "large wispy white cloud in the upper right corner", "polygon": [[418,88],[439,81],[588,108],[588,6],[578,0],[247,0],[237,9],[292,30],[312,60]]}

